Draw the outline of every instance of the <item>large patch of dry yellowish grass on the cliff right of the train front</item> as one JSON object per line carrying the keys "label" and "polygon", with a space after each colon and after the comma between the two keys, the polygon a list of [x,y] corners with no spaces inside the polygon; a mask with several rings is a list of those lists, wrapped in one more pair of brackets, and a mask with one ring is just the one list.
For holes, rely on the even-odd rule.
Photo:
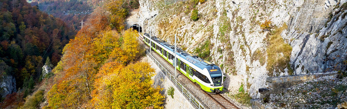
{"label": "large patch of dry yellowish grass on the cliff right of the train front", "polygon": [[268,48],[266,53],[268,54],[268,65],[266,69],[269,71],[269,76],[273,76],[273,71],[284,72],[284,69],[288,68],[289,75],[293,74],[289,66],[291,46],[284,42],[281,37],[281,33],[287,28],[286,24],[282,27],[278,27],[272,31],[271,35],[268,37]]}

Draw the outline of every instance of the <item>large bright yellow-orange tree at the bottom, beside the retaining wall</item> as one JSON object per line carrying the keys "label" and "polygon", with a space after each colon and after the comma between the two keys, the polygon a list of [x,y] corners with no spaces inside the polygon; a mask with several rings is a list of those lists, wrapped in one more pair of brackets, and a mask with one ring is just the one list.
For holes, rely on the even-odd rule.
{"label": "large bright yellow-orange tree at the bottom, beside the retaining wall", "polygon": [[95,80],[93,105],[95,108],[162,109],[162,89],[153,88],[155,70],[146,62],[137,62],[126,67],[120,63],[106,63]]}

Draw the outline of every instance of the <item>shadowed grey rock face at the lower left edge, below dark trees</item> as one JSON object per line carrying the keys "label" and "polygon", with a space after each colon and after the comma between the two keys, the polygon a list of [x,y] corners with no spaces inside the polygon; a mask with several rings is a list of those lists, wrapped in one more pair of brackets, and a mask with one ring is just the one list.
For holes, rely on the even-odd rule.
{"label": "shadowed grey rock face at the lower left edge, below dark trees", "polygon": [[17,92],[16,79],[12,76],[2,76],[0,79],[0,95],[6,97],[6,95]]}

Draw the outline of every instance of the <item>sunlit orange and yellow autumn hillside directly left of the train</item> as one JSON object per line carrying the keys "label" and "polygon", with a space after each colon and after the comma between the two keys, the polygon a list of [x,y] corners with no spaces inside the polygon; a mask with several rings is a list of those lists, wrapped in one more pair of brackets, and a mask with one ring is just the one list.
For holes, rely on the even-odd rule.
{"label": "sunlit orange and yellow autumn hillside directly left of the train", "polygon": [[144,48],[137,42],[137,31],[124,30],[129,3],[101,3],[59,52],[63,54],[61,60],[52,59],[57,65],[52,73],[29,96],[9,95],[2,108],[163,108],[164,97],[159,93],[162,88],[152,87],[154,69],[138,62]]}

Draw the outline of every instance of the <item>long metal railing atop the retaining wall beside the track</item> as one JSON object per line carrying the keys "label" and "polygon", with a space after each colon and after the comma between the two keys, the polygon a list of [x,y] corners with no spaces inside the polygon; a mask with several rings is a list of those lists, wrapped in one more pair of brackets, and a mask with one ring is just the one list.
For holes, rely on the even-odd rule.
{"label": "long metal railing atop the retaining wall beside the track", "polygon": [[200,103],[198,99],[192,95],[192,93],[190,93],[180,82],[177,81],[175,75],[171,74],[166,68],[164,68],[163,65],[161,65],[161,63],[156,60],[148,50],[146,50],[146,52],[147,57],[150,57],[152,61],[161,69],[162,73],[164,73],[166,77],[170,78],[171,82],[175,83],[176,88],[180,89],[182,95],[189,99],[189,103],[193,103],[198,109],[206,109],[202,103]]}

